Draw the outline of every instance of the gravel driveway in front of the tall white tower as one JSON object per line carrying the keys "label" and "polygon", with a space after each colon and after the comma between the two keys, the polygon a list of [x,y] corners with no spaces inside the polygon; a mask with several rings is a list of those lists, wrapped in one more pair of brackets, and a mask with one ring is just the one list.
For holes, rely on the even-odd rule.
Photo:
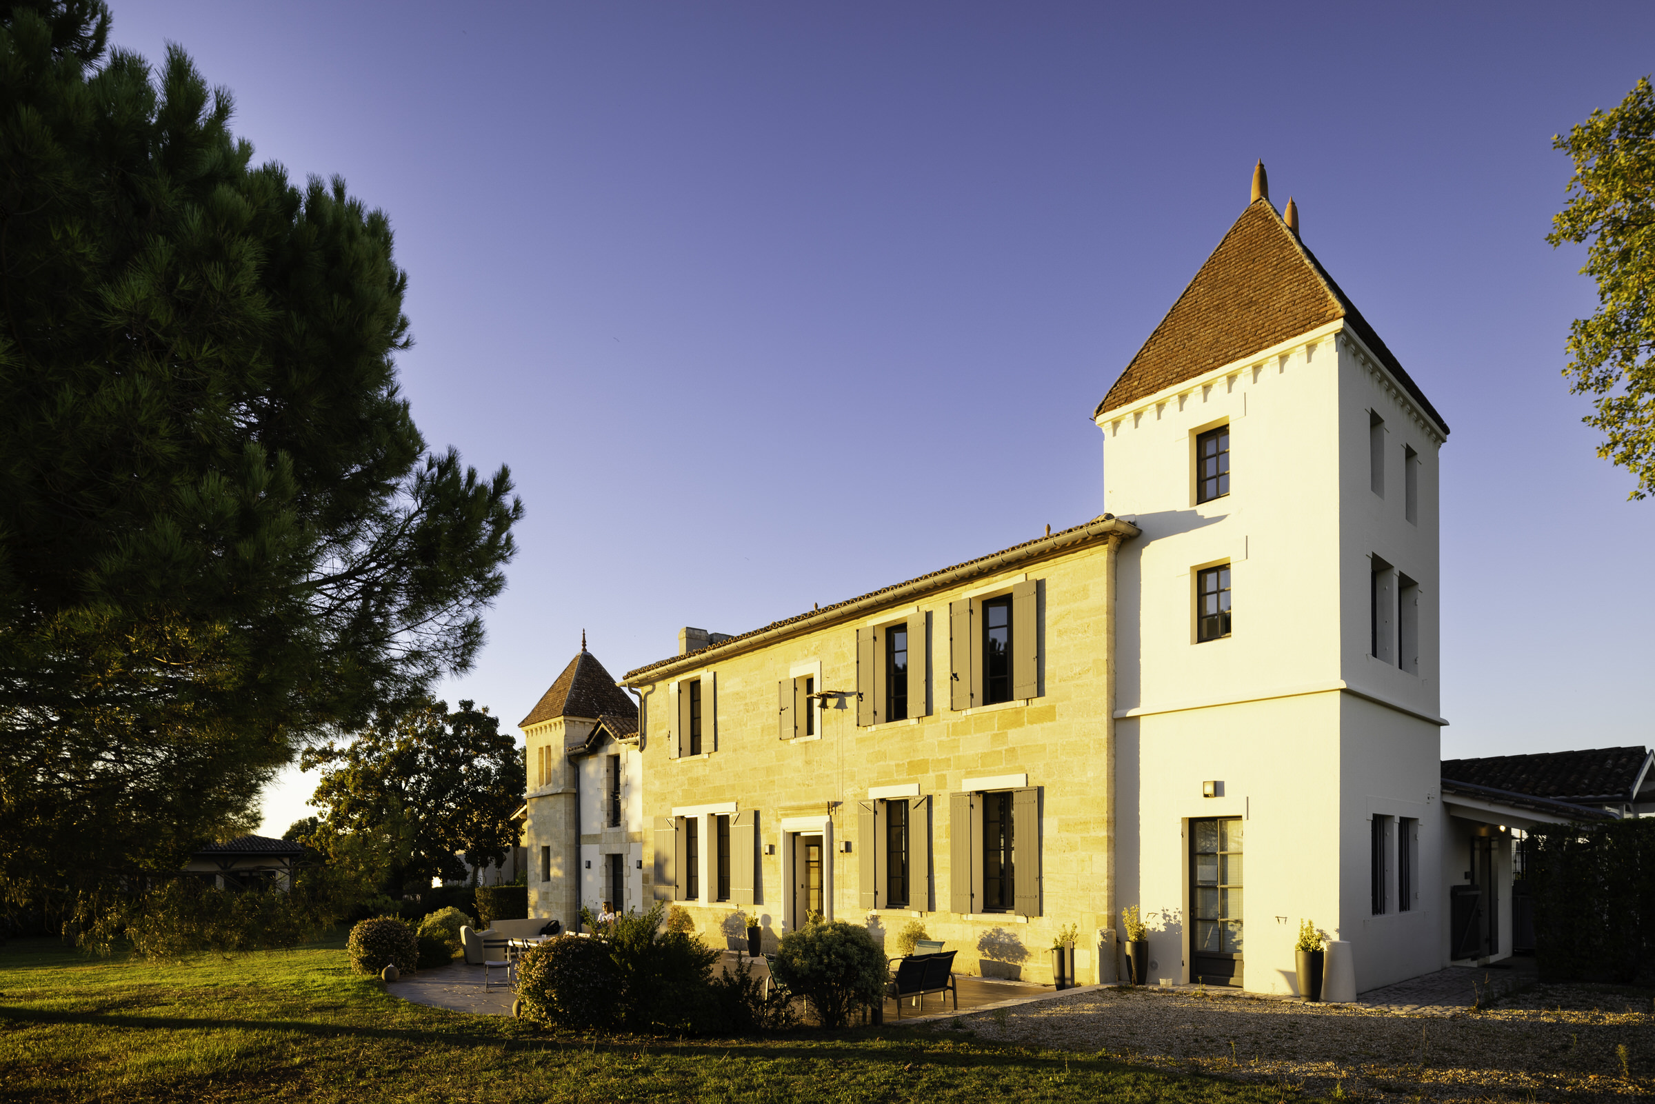
{"label": "gravel driveway in front of the tall white tower", "polygon": [[[1106,988],[973,1013],[980,1038],[1389,1101],[1655,1099],[1645,993],[1533,985],[1488,1010]],[[948,1021],[938,1025],[948,1030]],[[1625,1048],[1630,1078],[1617,1046]],[[1339,1089],[1336,1089],[1339,1086]]]}

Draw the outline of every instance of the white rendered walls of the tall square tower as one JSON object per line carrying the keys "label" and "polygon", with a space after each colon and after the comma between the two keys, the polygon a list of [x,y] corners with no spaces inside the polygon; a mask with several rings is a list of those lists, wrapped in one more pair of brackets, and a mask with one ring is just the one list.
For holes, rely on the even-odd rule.
{"label": "white rendered walls of the tall square tower", "polygon": [[[1301,917],[1357,945],[1359,990],[1442,965],[1437,444],[1334,323],[1111,410],[1119,568],[1120,902],[1154,912],[1155,977],[1188,980],[1190,818],[1245,819],[1245,986],[1294,990]],[[1370,483],[1385,422],[1385,497]],[[1195,435],[1230,425],[1230,493],[1195,502]],[[1402,516],[1402,445],[1418,457]],[[1370,659],[1370,554],[1418,583],[1418,674]],[[1230,639],[1195,642],[1195,569],[1228,563]],[[1392,654],[1395,649],[1392,649]],[[1377,697],[1347,692],[1359,690]],[[1400,707],[1400,708],[1395,708]],[[1202,783],[1221,783],[1203,798]],[[1413,915],[1372,915],[1375,809],[1418,816]]]}

